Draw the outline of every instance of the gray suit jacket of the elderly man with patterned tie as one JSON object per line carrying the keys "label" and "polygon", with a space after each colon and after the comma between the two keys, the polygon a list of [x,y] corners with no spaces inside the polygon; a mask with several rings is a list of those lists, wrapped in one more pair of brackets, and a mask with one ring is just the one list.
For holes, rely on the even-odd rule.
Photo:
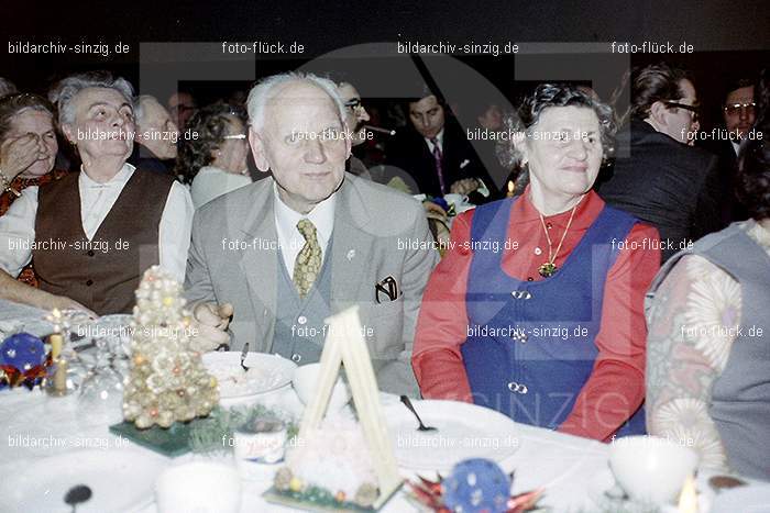
{"label": "gray suit jacket of the elderly man with patterned tie", "polygon": [[[266,178],[205,204],[193,221],[185,282],[190,304],[232,303],[231,348],[249,342],[270,353],[275,328],[278,236],[274,180]],[[408,196],[345,174],[332,233],[332,313],[358,304],[381,390],[419,394],[410,358],[422,291],[438,253],[425,212]],[[407,244],[411,241],[413,244]],[[429,249],[413,249],[419,241]],[[375,286],[396,280],[399,297],[376,301]]]}

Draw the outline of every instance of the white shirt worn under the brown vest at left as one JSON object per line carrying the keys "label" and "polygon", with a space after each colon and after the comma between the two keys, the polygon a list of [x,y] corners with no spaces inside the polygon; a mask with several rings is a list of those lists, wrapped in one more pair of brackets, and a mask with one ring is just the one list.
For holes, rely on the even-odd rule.
{"label": "white shirt worn under the brown vest at left", "polygon": [[[80,221],[89,241],[94,238],[114,205],[134,169],[132,165],[124,164],[106,183],[94,181],[80,171]],[[180,283],[185,281],[194,210],[189,192],[185,186],[175,181],[168,192],[158,225],[158,257],[161,267]],[[24,266],[32,260],[36,216],[37,187],[34,186],[24,189],[21,198],[11,204],[6,215],[0,216],[0,267],[13,277],[19,276]]]}

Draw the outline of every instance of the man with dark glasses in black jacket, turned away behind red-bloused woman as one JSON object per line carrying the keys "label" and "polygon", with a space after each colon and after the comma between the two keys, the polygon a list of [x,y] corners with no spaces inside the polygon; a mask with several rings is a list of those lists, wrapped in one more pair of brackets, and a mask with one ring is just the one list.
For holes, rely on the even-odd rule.
{"label": "man with dark glasses in black jacket, turned away behind red-bloused woman", "polygon": [[[697,238],[723,227],[717,158],[686,145],[697,112],[688,75],[666,64],[635,73],[630,134],[618,137],[618,157],[600,196],[613,207],[652,224],[663,261]],[[652,243],[651,243],[652,244]]]}

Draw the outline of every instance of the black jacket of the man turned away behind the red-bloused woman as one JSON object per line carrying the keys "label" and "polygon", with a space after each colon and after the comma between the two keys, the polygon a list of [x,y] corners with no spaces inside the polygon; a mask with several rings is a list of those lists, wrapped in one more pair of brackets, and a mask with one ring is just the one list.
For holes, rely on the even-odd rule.
{"label": "black jacket of the man turned away behind the red-bloused woman", "polygon": [[630,158],[617,158],[596,190],[608,204],[658,228],[663,261],[688,241],[724,227],[715,155],[679,143],[644,121],[632,121],[617,143],[620,150],[630,143]]}

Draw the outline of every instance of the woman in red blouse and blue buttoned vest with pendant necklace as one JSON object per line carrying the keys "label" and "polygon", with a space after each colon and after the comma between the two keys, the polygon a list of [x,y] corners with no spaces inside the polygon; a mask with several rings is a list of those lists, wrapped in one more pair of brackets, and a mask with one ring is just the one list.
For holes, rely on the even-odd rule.
{"label": "woman in red blouse and blue buttoned vest with pendant necklace", "polygon": [[524,192],[457,218],[420,309],[422,395],[606,440],[645,430],[645,292],[654,228],[592,191],[614,134],[608,107],[541,85],[519,110]]}

